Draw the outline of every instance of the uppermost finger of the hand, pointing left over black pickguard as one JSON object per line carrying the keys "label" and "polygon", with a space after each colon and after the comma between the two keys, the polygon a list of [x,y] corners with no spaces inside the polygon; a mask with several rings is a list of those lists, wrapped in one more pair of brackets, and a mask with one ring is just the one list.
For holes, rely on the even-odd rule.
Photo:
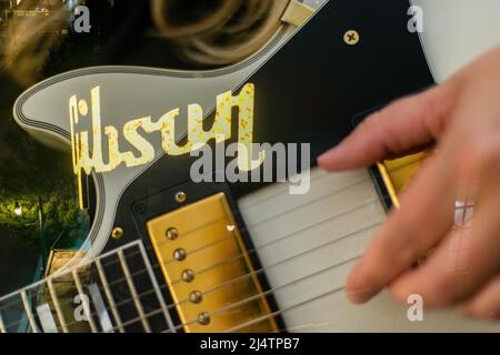
{"label": "uppermost finger of the hand, pointing left over black pickguard", "polygon": [[318,159],[329,171],[357,169],[437,139],[454,102],[451,83],[394,102],[367,118],[342,143]]}

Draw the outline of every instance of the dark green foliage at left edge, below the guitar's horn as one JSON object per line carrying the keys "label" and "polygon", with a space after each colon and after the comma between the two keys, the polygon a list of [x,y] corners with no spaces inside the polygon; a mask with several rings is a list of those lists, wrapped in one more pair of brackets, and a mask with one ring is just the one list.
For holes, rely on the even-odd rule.
{"label": "dark green foliage at left edge, below the guitar's horn", "polygon": [[[62,245],[72,246],[81,229],[70,155],[41,146],[17,126],[10,128],[0,143],[4,148],[0,159],[0,225],[39,248],[41,196],[47,246],[62,232]],[[21,216],[14,213],[16,203],[22,209]]]}

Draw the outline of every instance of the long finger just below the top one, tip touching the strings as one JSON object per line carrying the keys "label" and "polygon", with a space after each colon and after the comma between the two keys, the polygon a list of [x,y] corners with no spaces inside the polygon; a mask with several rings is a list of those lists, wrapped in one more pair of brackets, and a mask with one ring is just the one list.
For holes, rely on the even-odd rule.
{"label": "long finger just below the top one, tip touching the strings", "polygon": [[433,156],[416,176],[401,197],[401,209],[393,211],[349,276],[346,288],[351,302],[370,300],[449,231],[454,207],[453,169],[444,162],[450,159]]}

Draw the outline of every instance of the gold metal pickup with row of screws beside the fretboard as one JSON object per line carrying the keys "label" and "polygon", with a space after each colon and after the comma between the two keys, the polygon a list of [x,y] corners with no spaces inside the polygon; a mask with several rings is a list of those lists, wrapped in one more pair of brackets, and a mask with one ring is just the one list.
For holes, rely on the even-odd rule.
{"label": "gold metal pickup with row of screws beside the fretboard", "polygon": [[183,329],[277,332],[258,272],[223,193],[147,223]]}

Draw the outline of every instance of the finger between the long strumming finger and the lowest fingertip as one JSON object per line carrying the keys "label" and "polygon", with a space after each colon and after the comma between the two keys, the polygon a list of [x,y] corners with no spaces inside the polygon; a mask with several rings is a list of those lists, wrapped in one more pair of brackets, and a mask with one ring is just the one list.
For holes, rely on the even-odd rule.
{"label": "finger between the long strumming finger and the lowest fingertip", "polygon": [[471,223],[451,232],[421,267],[392,283],[391,292],[397,300],[404,302],[408,295],[419,294],[427,307],[456,304],[498,273],[498,209],[488,201],[478,205],[474,214]]}

